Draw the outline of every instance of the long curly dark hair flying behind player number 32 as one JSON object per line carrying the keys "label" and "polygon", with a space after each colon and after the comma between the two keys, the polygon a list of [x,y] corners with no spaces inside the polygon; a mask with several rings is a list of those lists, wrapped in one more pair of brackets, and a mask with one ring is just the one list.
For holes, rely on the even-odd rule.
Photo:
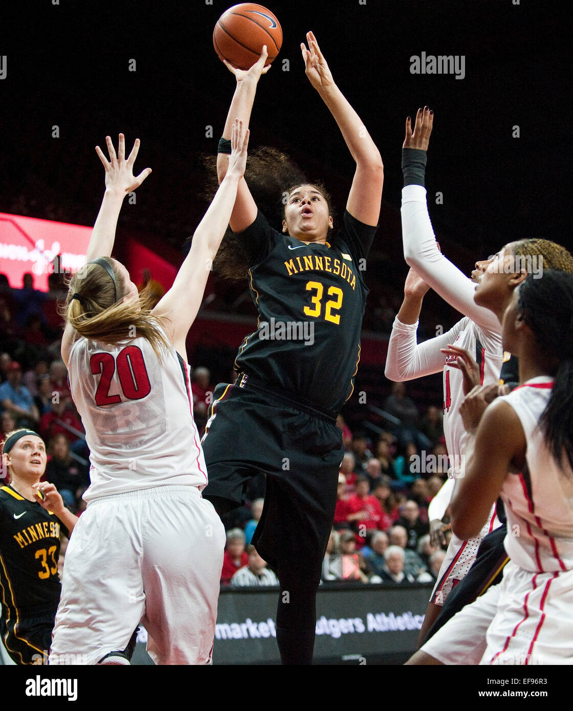
{"label": "long curly dark hair flying behind player number 32", "polygon": [[[218,188],[217,157],[204,156],[203,164],[208,172],[203,198],[211,201]],[[301,185],[311,185],[316,188],[325,198],[330,214],[333,215],[331,196],[323,184],[308,181],[303,171],[287,154],[270,146],[261,146],[249,154],[245,178],[257,207],[267,218],[269,225],[279,231],[282,230],[284,207],[287,204],[286,196]],[[242,251],[232,231],[227,229],[213,260],[215,274],[223,279],[238,281],[247,278],[248,269],[245,252]]]}

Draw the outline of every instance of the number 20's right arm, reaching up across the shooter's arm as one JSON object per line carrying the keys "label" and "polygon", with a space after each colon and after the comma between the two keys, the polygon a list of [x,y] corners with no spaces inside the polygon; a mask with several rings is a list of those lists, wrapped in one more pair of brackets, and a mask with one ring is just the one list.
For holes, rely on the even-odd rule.
{"label": "number 20's right arm, reaching up across the shooter's arm", "polygon": [[213,257],[225,235],[237,197],[237,186],[245,173],[248,141],[248,130],[245,131],[236,119],[231,132],[232,153],[225,178],[193,235],[191,250],[181,264],[173,286],[151,311],[161,321],[176,351],[185,359],[187,332],[203,301]]}

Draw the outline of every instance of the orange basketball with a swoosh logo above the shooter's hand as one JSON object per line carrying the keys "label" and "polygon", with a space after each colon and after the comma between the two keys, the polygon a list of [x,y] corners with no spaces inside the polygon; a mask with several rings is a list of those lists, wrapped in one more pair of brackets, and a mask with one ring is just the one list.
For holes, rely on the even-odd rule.
{"label": "orange basketball with a swoosh logo above the shooter's hand", "polygon": [[270,64],[282,45],[282,28],[277,18],[262,5],[251,2],[233,5],[215,25],[213,46],[220,60],[239,69],[250,69],[267,45]]}

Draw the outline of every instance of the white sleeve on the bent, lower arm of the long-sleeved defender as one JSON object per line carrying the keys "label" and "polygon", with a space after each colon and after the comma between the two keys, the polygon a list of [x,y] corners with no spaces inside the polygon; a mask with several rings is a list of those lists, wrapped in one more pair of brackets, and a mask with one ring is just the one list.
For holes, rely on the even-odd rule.
{"label": "white sleeve on the bent, lower arm of the long-sleeved defender", "polygon": [[445,360],[444,353],[440,353],[440,348],[446,348],[448,343],[454,343],[464,327],[464,321],[465,319],[461,319],[447,333],[429,338],[418,345],[416,340],[418,323],[402,324],[396,316],[386,355],[384,370],[386,378],[398,382],[440,373],[444,369]]}

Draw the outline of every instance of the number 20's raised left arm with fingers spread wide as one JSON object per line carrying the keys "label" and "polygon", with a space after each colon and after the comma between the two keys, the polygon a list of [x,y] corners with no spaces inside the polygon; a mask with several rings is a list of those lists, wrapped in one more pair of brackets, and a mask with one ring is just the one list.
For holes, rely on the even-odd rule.
{"label": "number 20's raised left arm with fingers spread wide", "polygon": [[111,257],[117,218],[119,218],[119,211],[122,209],[124,198],[136,188],[139,188],[151,173],[151,168],[146,168],[139,173],[139,176],[135,177],[133,174],[133,166],[139,151],[139,138],[135,139],[134,147],[127,160],[125,159],[124,134],[119,134],[117,156],[112,139],[106,136],[105,140],[109,161],[102,153],[100,146],[95,146],[95,152],[105,168],[105,193],[100,212],[97,214],[97,220],[95,220],[92,230],[90,245],[87,247],[86,262],[91,262],[97,257]]}

